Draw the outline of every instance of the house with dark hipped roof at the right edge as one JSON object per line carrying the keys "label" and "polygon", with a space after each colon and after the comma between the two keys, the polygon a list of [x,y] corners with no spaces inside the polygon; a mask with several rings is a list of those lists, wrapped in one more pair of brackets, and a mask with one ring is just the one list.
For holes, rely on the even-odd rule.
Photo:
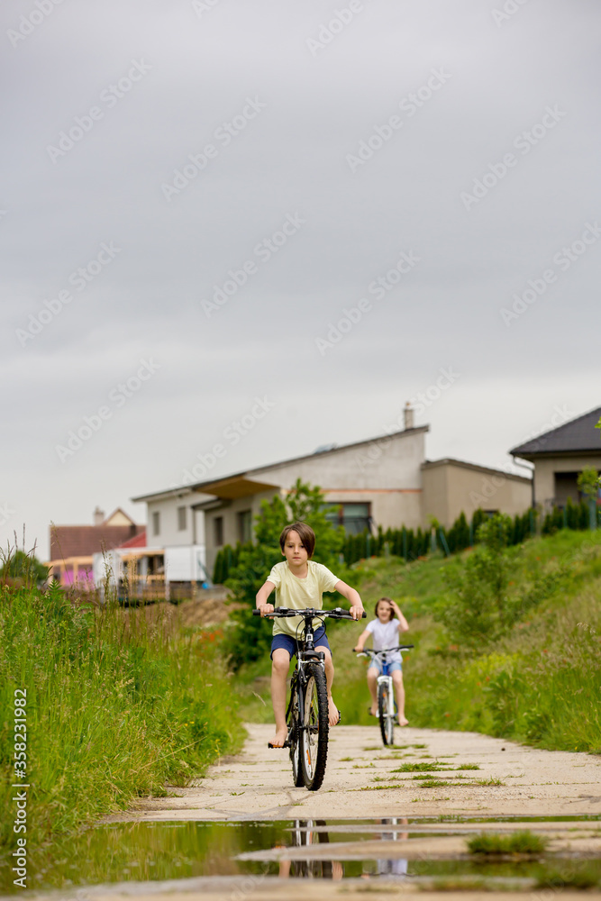
{"label": "house with dark hipped roof at the right edge", "polygon": [[534,464],[533,502],[543,510],[563,507],[568,498],[578,503],[578,475],[586,467],[601,470],[601,432],[596,423],[601,406],[525,441],[512,451],[513,457]]}

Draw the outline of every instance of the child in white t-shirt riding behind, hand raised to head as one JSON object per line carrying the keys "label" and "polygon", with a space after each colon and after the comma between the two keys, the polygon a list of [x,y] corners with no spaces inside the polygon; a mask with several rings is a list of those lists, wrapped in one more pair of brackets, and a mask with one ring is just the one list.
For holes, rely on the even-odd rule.
{"label": "child in white t-shirt riding behind, hand raised to head", "polygon": [[[380,597],[374,611],[376,619],[371,620],[365,632],[362,632],[357,642],[355,651],[363,651],[369,635],[373,638],[374,651],[386,651],[387,648],[396,648],[399,645],[400,632],[406,632],[409,623],[401,613],[396,601],[389,597]],[[395,687],[396,706],[398,708],[398,724],[406,726],[409,721],[405,718],[405,687],[403,686],[403,665],[400,651],[387,655],[388,672],[392,676],[392,684]],[[368,669],[368,687],[371,695],[369,713],[378,716],[378,676],[382,672],[382,664],[379,660],[371,660]]]}

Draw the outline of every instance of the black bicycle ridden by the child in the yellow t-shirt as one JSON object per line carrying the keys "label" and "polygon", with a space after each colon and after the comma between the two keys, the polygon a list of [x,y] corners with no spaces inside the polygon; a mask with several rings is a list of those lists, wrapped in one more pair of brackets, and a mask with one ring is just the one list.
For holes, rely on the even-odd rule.
{"label": "black bicycle ridden by the child in the yellow t-shirt", "polygon": [[[260,616],[259,610],[253,610]],[[363,613],[363,617],[367,614]],[[284,747],[290,749],[292,777],[297,788],[305,786],[309,791],[321,788],[328,756],[328,688],[325,681],[325,654],[315,651],[314,619],[350,619],[348,610],[336,607],[334,610],[316,610],[307,607],[295,610],[291,607],[276,607],[265,618],[276,616],[300,616],[296,638],[296,669],[290,683],[290,700],[286,711],[288,729]],[[269,747],[273,745],[269,744]]]}

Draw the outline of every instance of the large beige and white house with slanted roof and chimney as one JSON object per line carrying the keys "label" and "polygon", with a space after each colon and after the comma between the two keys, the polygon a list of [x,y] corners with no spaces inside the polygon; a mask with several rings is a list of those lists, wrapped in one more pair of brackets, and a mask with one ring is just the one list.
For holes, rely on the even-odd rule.
{"label": "large beige and white house with slanted roof and chimney", "polygon": [[530,505],[529,478],[461,460],[428,461],[430,427],[414,426],[409,408],[404,424],[367,441],[324,445],[302,457],[134,497],[148,506],[147,545],[196,542],[212,572],[223,545],[250,541],[261,501],[285,497],[298,478],[321,487],[332,523],[347,532],[424,527],[431,516],[449,526],[461,511],[484,507],[513,515]]}

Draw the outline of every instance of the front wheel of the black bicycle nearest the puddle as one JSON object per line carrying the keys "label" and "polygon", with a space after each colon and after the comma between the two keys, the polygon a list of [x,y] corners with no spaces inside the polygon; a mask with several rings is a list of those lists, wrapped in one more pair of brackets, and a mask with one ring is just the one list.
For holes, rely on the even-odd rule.
{"label": "front wheel of the black bicycle nearest the puddle", "polygon": [[305,666],[307,677],[301,723],[303,780],[309,791],[321,788],[328,756],[328,688],[317,663]]}

